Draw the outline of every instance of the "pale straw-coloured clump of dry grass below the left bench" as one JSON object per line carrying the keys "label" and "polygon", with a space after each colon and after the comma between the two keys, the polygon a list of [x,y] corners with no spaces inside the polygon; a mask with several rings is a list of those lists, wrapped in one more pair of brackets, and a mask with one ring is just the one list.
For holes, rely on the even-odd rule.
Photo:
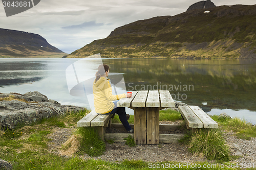
{"label": "pale straw-coloured clump of dry grass below the left bench", "polygon": [[71,156],[79,151],[80,148],[80,135],[72,135],[65,143],[62,144],[60,155],[68,155]]}

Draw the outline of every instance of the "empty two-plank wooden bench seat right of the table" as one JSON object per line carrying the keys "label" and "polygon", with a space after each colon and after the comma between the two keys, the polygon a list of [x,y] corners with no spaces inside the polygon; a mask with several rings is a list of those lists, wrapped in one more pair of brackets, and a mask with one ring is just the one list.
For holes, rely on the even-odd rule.
{"label": "empty two-plank wooden bench seat right of the table", "polygon": [[200,128],[218,128],[218,124],[199,106],[179,106],[179,111],[185,119],[187,129],[195,132]]}

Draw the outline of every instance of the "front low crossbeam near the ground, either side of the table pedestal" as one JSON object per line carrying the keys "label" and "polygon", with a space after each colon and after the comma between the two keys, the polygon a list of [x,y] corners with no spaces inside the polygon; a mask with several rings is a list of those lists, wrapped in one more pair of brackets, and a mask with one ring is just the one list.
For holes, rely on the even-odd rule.
{"label": "front low crossbeam near the ground, either side of the table pedestal", "polygon": [[[125,141],[124,138],[127,138],[129,135],[134,137],[134,134],[129,133],[105,133],[104,139],[110,140],[114,139],[115,142],[123,142]],[[159,140],[160,143],[178,143],[179,139],[181,139],[184,135],[176,135],[176,134],[160,134]]]}

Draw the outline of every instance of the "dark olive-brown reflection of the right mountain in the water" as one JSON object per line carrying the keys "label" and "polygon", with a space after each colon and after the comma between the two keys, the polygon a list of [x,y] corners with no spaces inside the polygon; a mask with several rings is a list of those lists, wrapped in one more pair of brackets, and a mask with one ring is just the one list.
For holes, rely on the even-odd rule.
{"label": "dark olive-brown reflection of the right mountain in the water", "polygon": [[106,59],[103,62],[112,71],[125,73],[127,90],[170,90],[176,101],[198,105],[205,111],[256,110],[255,60]]}

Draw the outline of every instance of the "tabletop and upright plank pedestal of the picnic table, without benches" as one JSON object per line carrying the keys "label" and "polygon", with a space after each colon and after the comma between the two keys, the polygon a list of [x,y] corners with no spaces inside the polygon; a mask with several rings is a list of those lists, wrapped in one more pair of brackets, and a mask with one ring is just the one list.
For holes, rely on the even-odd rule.
{"label": "tabletop and upright plank pedestal of the picnic table, without benches", "polygon": [[168,90],[132,91],[131,98],[123,98],[117,107],[134,110],[134,140],[137,144],[159,143],[159,110],[175,107]]}

